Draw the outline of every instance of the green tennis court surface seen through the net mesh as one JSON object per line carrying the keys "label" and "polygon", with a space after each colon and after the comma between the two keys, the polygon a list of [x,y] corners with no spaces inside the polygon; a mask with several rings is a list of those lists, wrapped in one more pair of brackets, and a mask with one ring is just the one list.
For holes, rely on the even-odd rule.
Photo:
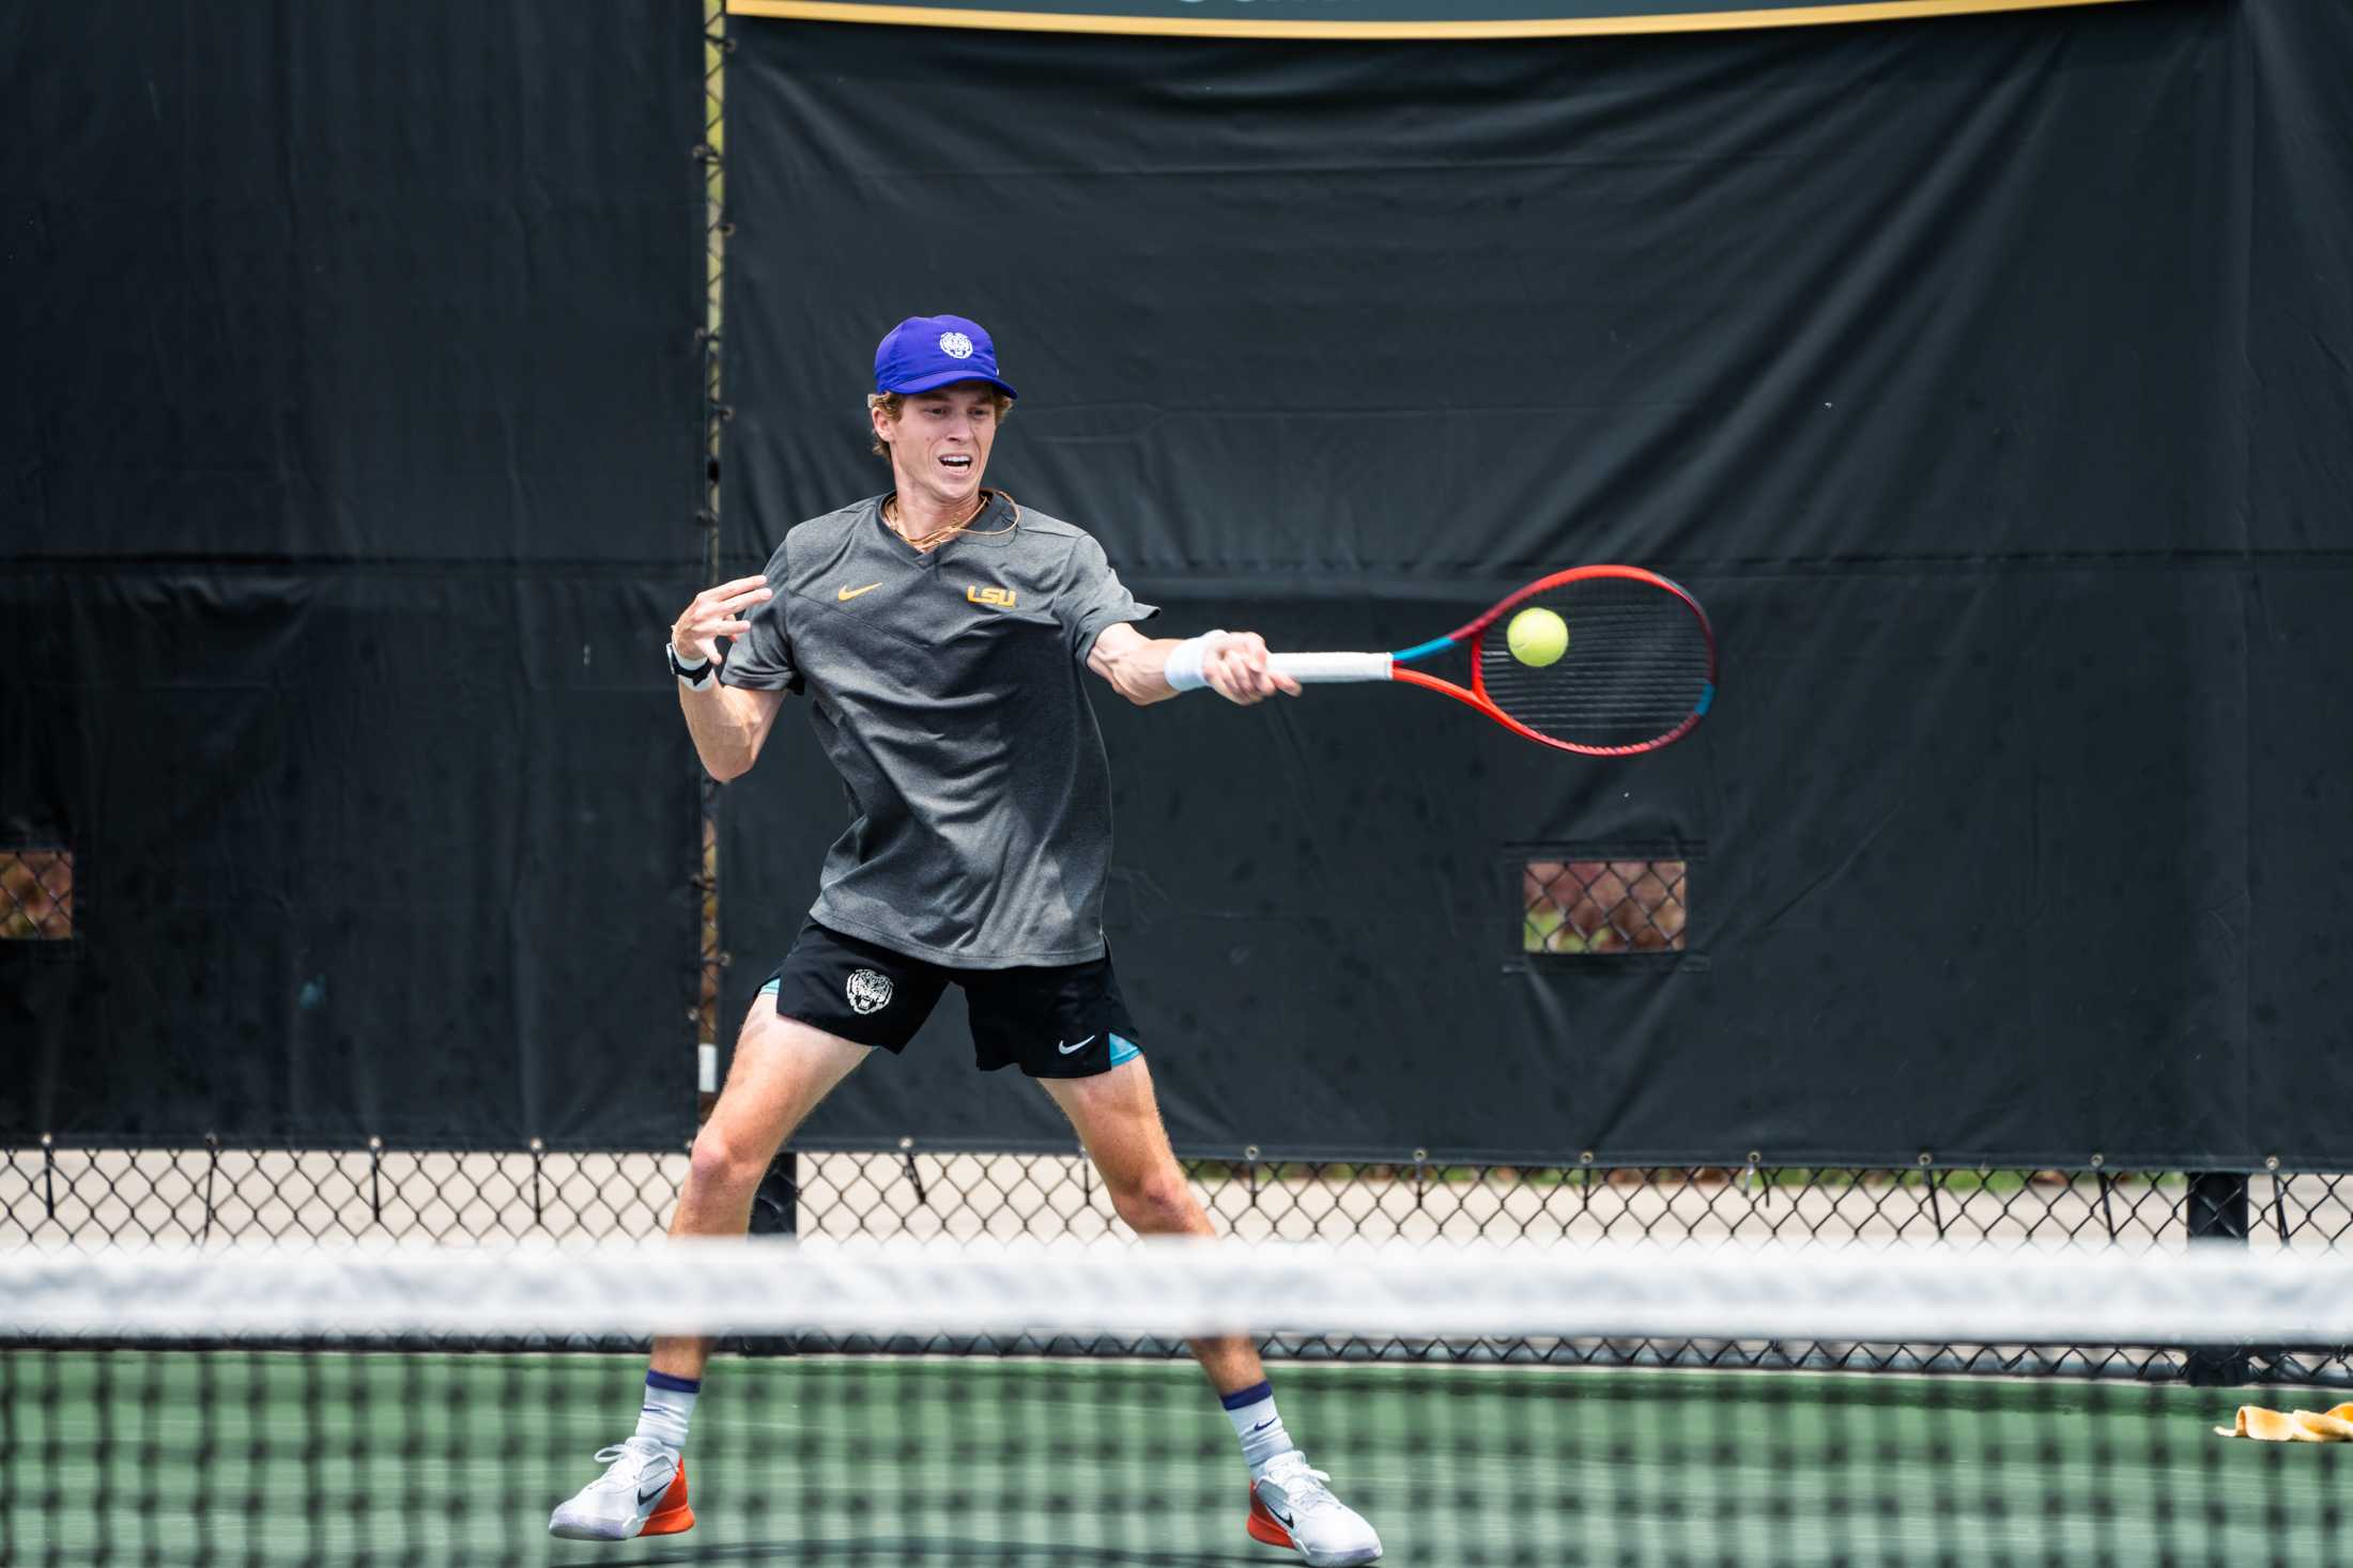
{"label": "green tennis court surface seen through the net mesh", "polygon": [[[732,1359],[689,1535],[553,1542],[635,1410],[600,1354],[9,1352],[19,1563],[1280,1563],[1191,1363]],[[1386,1563],[2329,1563],[2337,1448],[2228,1443],[2278,1389],[1278,1366]],[[2325,1401],[2322,1401],[2325,1403]]]}

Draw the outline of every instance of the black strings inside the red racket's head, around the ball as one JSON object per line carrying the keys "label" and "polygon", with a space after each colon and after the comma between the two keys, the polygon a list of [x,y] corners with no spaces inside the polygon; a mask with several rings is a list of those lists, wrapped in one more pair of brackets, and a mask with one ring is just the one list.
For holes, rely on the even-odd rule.
{"label": "black strings inside the red racket's head, around the ball", "polygon": [[[1548,609],[1569,628],[1548,665],[1520,663],[1511,618]],[[1572,745],[1642,745],[1699,710],[1715,679],[1706,623],[1680,595],[1626,578],[1586,578],[1499,616],[1478,642],[1487,698],[1537,733]]]}

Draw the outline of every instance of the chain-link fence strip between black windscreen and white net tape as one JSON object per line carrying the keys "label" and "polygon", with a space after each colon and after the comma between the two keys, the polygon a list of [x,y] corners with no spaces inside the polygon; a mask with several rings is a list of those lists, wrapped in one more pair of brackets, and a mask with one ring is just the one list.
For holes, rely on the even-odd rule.
{"label": "chain-link fence strip between black windscreen and white net tape", "polygon": [[[1186,1171],[1219,1229],[1249,1241],[2160,1251],[2207,1234],[2268,1251],[2332,1251],[2353,1232],[2353,1175],[2315,1173],[1254,1159],[1193,1159]],[[631,1241],[664,1232],[685,1173],[685,1150],[9,1147],[0,1150],[0,1246]],[[767,1182],[760,1227],[826,1241],[941,1244],[1127,1234],[1075,1152],[788,1152]]]}

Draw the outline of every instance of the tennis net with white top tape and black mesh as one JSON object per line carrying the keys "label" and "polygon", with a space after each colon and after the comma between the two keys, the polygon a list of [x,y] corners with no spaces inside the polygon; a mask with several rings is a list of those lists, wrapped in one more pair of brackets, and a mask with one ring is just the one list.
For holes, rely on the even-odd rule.
{"label": "tennis net with white top tape and black mesh", "polygon": [[[654,1331],[769,1352],[711,1368],[694,1530],[548,1540],[633,1427]],[[2214,1434],[2240,1403],[2334,1399],[2188,1382],[2353,1345],[2353,1265],[2327,1258],[753,1244],[0,1255],[0,1563],[1297,1561],[1245,1537],[1235,1436],[1176,1352],[1231,1331],[1294,1352],[1285,1425],[1386,1563],[2353,1547],[2353,1448]],[[1647,1340],[1741,1368],[1767,1345],[1977,1345],[1977,1368],[2129,1347],[2078,1366],[2134,1375],[1551,1354]]]}

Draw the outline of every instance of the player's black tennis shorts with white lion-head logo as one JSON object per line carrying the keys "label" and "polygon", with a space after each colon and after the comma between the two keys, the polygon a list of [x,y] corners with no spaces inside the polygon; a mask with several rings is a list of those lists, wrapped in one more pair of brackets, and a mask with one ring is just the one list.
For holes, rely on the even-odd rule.
{"label": "player's black tennis shorts with white lion-head logo", "polygon": [[1092,964],[948,969],[812,919],[760,994],[812,1030],[906,1051],[951,985],[965,987],[981,1072],[1021,1067],[1033,1079],[1092,1079],[1144,1056],[1108,952]]}

